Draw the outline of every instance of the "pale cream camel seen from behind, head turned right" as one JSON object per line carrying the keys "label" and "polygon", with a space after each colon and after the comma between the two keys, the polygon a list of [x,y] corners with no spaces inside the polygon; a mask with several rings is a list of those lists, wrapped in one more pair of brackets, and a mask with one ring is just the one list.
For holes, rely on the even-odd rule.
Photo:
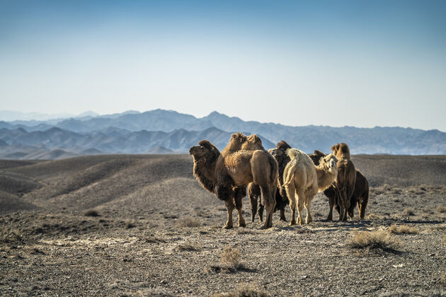
{"label": "pale cream camel seen from behind, head turned right", "polygon": [[336,162],[338,159],[331,153],[321,158],[319,165],[316,166],[306,153],[297,148],[288,149],[287,155],[290,157],[290,162],[285,166],[283,182],[285,191],[290,199],[292,216],[290,225],[295,225],[296,223],[296,204],[299,225],[302,225],[301,211],[303,207],[307,209],[307,219],[305,222],[311,223],[311,200],[317,192],[324,191],[336,180],[336,176],[338,175]]}

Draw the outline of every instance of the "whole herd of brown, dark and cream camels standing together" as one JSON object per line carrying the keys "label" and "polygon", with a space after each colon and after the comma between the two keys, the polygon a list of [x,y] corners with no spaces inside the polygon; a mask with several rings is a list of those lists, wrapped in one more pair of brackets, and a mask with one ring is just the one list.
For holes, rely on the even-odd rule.
{"label": "whole herd of brown, dark and cream camels standing together", "polygon": [[305,208],[305,223],[310,223],[311,200],[322,191],[330,205],[328,220],[333,219],[333,206],[341,221],[345,221],[347,215],[353,218],[356,204],[360,219],[364,219],[369,195],[367,179],[355,169],[347,144],[335,144],[331,151],[328,155],[317,150],[307,155],[285,141],[266,151],[256,134],[235,133],[221,153],[207,140],[192,146],[189,153],[193,156],[193,175],[198,182],[226,204],[227,223],[223,228],[233,227],[234,209],[239,213],[239,226],[246,226],[241,199],[248,192],[252,221],[257,211],[263,221],[263,209],[266,209],[265,223],[261,227],[265,229],[273,226],[276,210],[280,210],[280,220],[286,221],[287,204],[291,209],[290,225],[296,224],[296,205],[297,222],[302,224]]}

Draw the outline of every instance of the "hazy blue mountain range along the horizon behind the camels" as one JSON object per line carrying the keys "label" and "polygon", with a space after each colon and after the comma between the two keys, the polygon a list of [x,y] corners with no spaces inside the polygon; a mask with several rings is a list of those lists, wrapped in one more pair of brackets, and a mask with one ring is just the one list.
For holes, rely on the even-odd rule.
{"label": "hazy blue mountain range along the horizon behind the camels", "polygon": [[[3,112],[4,113],[4,112]],[[0,115],[3,114],[0,112]],[[352,153],[446,154],[446,133],[401,127],[291,127],[245,122],[212,112],[197,118],[172,110],[88,112],[51,120],[0,121],[0,158],[57,159],[100,153],[186,153],[202,139],[224,148],[231,133],[258,134],[265,148],[284,139],[291,146],[328,152],[345,142]]]}

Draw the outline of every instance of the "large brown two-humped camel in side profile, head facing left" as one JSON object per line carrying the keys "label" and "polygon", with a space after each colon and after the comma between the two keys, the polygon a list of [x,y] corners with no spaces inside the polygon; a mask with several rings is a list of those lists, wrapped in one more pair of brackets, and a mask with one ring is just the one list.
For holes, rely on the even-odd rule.
{"label": "large brown two-humped camel in side profile, head facing left", "polygon": [[261,188],[262,204],[266,208],[267,218],[262,228],[273,226],[278,163],[265,151],[257,135],[232,134],[222,153],[209,141],[200,141],[198,146],[190,148],[189,153],[194,159],[193,173],[202,187],[215,193],[227,206],[228,218],[223,228],[233,228],[234,208],[239,213],[239,226],[246,226],[241,213],[241,198],[246,195],[246,185],[251,182]]}

